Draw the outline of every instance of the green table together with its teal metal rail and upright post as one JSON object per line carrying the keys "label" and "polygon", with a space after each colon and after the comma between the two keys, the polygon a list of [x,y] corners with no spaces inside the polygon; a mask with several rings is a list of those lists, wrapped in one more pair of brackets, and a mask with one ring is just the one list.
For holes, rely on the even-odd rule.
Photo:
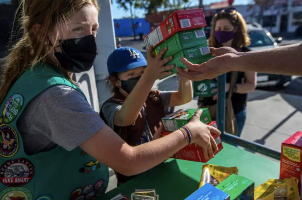
{"label": "green table together with its teal metal rail and upright post", "polygon": [[[225,167],[235,166],[239,170],[239,175],[255,182],[255,187],[268,179],[279,178],[280,151],[224,132],[225,83],[226,74],[223,74],[218,77],[217,109],[217,124],[219,130],[223,133],[223,150],[214,159],[208,161],[208,164]],[[236,147],[237,145],[252,152]],[[255,154],[255,152],[273,159]],[[161,200],[183,200],[198,189],[202,165],[203,163],[199,162],[169,159],[106,193],[100,199],[109,200],[118,194],[131,198],[131,193],[135,192],[135,189],[155,189]]]}

